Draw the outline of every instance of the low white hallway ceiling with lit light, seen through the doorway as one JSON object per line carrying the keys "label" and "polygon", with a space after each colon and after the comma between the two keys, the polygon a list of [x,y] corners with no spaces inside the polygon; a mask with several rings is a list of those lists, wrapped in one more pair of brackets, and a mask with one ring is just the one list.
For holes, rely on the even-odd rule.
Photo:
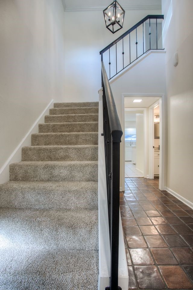
{"label": "low white hallway ceiling with lit light, seen through the doorway", "polygon": [[[134,103],[135,99],[142,99],[141,103]],[[148,108],[159,100],[158,97],[125,97],[125,108]]]}

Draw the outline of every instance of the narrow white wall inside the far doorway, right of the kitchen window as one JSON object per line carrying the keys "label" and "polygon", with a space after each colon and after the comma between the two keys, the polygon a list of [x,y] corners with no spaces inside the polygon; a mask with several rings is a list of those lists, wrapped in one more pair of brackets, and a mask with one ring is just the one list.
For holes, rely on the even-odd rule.
{"label": "narrow white wall inside the far doorway, right of the kitchen window", "polygon": [[144,172],[144,114],[136,114],[136,168]]}

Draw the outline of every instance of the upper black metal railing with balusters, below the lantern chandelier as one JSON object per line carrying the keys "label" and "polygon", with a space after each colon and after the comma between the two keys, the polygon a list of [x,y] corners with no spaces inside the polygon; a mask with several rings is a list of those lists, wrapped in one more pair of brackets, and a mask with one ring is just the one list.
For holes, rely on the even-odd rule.
{"label": "upper black metal railing with balusters, below the lantern chandelier", "polygon": [[163,15],[147,15],[115,41],[100,51],[108,79],[129,66],[148,50],[160,50],[162,46]]}

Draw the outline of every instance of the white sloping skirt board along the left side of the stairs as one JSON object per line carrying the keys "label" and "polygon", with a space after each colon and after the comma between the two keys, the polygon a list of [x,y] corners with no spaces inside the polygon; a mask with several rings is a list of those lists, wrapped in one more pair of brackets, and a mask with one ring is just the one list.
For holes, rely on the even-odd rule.
{"label": "white sloping skirt board along the left side of the stairs", "polygon": [[24,146],[31,146],[31,134],[38,133],[38,124],[44,123],[44,116],[49,115],[49,109],[53,108],[53,99],[49,102],[40,116],[37,118],[35,123],[32,125],[30,130],[27,132],[25,137],[21,140],[19,145],[15,148],[13,153],[9,156],[4,165],[0,168],[0,184],[9,181],[9,165],[11,163],[20,162],[21,161],[21,148]]}

